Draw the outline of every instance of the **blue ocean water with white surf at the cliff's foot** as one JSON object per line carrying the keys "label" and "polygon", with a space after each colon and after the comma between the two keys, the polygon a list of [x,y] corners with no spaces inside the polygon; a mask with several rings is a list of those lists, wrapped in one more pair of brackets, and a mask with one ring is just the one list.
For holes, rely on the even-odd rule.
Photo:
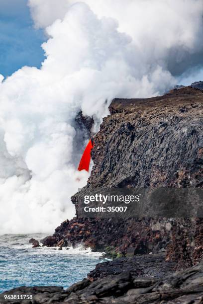
{"label": "blue ocean water with white surf at the cliff's foot", "polygon": [[32,248],[31,237],[44,234],[0,235],[0,293],[19,286],[63,286],[67,288],[87,277],[101,253],[81,247],[66,250]]}

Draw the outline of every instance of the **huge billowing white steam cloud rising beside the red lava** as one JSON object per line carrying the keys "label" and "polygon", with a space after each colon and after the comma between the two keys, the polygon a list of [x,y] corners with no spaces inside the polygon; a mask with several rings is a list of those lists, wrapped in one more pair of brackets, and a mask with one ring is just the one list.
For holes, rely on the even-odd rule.
{"label": "huge billowing white steam cloud rising beside the red lava", "polygon": [[[50,232],[75,214],[75,117],[176,84],[203,51],[202,0],[29,0],[48,41],[40,70],[0,80],[0,233]],[[84,143],[85,144],[85,143]]]}

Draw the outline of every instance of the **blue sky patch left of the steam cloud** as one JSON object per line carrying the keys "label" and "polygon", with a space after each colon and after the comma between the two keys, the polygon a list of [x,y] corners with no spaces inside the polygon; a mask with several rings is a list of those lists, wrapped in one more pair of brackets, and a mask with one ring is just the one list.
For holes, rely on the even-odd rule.
{"label": "blue sky patch left of the steam cloud", "polygon": [[46,40],[35,30],[27,0],[0,0],[0,74],[9,76],[22,66],[40,67]]}

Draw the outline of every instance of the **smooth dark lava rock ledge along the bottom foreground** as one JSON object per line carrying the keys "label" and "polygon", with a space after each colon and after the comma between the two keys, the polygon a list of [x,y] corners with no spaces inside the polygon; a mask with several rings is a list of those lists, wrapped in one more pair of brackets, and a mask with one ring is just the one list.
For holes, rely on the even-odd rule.
{"label": "smooth dark lava rock ledge along the bottom foreground", "polygon": [[91,282],[84,279],[67,290],[61,287],[20,287],[0,295],[32,295],[33,300],[11,300],[26,304],[201,304],[203,303],[203,262],[162,279],[134,278],[131,271],[108,275]]}

